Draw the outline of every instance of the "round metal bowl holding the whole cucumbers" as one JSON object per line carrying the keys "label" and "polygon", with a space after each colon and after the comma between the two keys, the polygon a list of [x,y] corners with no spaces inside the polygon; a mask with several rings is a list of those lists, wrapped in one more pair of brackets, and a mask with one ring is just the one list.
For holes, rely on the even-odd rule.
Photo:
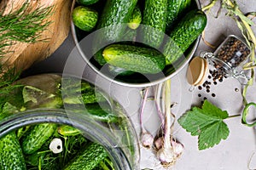
{"label": "round metal bowl holding the whole cucumbers", "polygon": [[[201,3],[199,0],[192,1],[191,8],[199,8],[201,9]],[[73,8],[76,7],[76,1],[73,1]],[[75,42],[76,48],[79,50],[79,54],[84,59],[85,63],[90,66],[93,71],[96,71],[97,76],[103,77],[110,82],[117,83],[119,85],[125,87],[133,87],[133,88],[144,88],[148,86],[153,86],[160,82],[165,82],[167,79],[174,77],[177,75],[179,71],[183,69],[185,65],[188,64],[189,59],[192,58],[193,54],[195,54],[195,50],[199,45],[201,36],[197,37],[195,42],[193,42],[190,47],[185,51],[183,57],[178,59],[173,65],[168,65],[166,68],[160,72],[159,74],[154,75],[142,75],[139,73],[132,74],[131,76],[114,76],[108,71],[108,67],[105,65],[98,65],[96,60],[93,59],[93,54],[88,53],[88,46],[91,48],[92,38],[94,37],[92,33],[85,33],[79,30],[73,24],[73,20],[71,19],[71,30],[73,35],[73,40]],[[101,29],[100,29],[101,30]],[[165,35],[166,36],[166,35]]]}

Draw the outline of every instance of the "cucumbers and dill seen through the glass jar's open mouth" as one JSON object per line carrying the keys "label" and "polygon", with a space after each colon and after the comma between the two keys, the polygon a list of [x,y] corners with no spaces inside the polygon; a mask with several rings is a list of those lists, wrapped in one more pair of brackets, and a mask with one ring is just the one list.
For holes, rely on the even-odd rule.
{"label": "cucumbers and dill seen through the glass jar's open mouth", "polygon": [[[0,139],[0,169],[114,169],[105,148],[86,139],[74,127],[41,123],[22,129],[28,130],[22,136],[18,136],[20,128]],[[49,150],[49,144],[54,139],[61,139],[61,153]]]}

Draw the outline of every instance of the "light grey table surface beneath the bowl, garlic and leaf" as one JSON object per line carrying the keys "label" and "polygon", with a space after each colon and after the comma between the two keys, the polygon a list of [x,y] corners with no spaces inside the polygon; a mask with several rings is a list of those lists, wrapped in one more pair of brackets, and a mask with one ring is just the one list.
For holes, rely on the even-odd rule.
{"label": "light grey table surface beneath the bowl, garlic and leaf", "polygon": [[[202,5],[208,1],[201,1]],[[238,0],[241,11],[243,13],[256,11],[255,0]],[[218,6],[218,3],[217,3]],[[230,34],[242,37],[241,31],[234,20],[225,15],[223,10],[218,18],[213,17],[217,12],[217,8],[212,8],[211,13],[207,13],[207,27],[205,30],[206,40],[218,47],[218,44]],[[255,19],[253,20],[255,23]],[[253,27],[256,33],[255,26]],[[121,105],[124,106],[127,114],[131,117],[131,121],[137,133],[140,133],[138,111],[141,102],[140,90],[141,88],[128,88],[117,84],[108,82],[96,75],[88,65],[85,64],[84,59],[81,59],[79,53],[74,48],[73,37],[70,34],[66,41],[63,42],[54,54],[48,59],[35,64],[31,69],[26,71],[26,74],[38,74],[44,72],[65,72],[83,76],[90,81],[93,81],[100,88],[108,92],[117,99]],[[204,42],[200,42],[195,55],[203,51],[212,52],[214,49],[209,48]],[[73,53],[71,54],[71,52]],[[189,92],[189,84],[186,82],[187,67],[184,67],[177,76],[172,77],[172,102],[177,102],[174,109],[176,116],[181,116],[185,111],[188,111],[192,105],[200,105],[201,98],[198,97],[200,93],[207,97],[214,105],[218,105],[221,109],[228,111],[230,115],[241,114],[243,105],[241,97],[241,89],[243,88],[235,78],[225,79],[224,82],[218,83],[217,86],[211,88],[211,92],[216,94],[212,97],[211,94],[205,91],[199,91],[197,88],[193,92]],[[255,84],[255,83],[254,83]],[[238,88],[238,92],[235,90]],[[248,101],[256,102],[256,86],[253,85],[248,89]],[[255,110],[253,115],[255,116]],[[148,101],[146,105],[147,113],[144,116],[145,127],[152,133],[156,133],[156,129],[160,127],[157,114],[155,112],[154,102]],[[230,128],[230,135],[228,139],[222,140],[220,144],[208,150],[197,149],[197,137],[190,136],[183,128],[175,124],[173,136],[184,144],[183,155],[177,160],[177,163],[170,167],[170,169],[187,170],[187,169],[207,169],[207,170],[245,170],[256,169],[256,132],[253,127],[246,127],[241,124],[240,117],[226,121]],[[152,150],[146,150],[141,147],[141,168],[164,169],[160,162],[155,159]]]}

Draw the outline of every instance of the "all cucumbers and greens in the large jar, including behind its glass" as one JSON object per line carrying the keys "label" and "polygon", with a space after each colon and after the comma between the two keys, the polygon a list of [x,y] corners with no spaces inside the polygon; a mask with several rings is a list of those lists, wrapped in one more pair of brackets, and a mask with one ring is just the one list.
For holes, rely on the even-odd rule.
{"label": "all cucumbers and greens in the large jar, including behind its glass", "polygon": [[[63,81],[60,76],[51,74],[26,77],[17,82],[11,94],[1,94],[0,101],[0,121],[20,111],[61,109],[65,105],[74,114],[90,116],[102,126],[119,130],[126,126],[125,117],[119,114],[119,105],[110,106],[113,100],[90,83],[75,78]],[[80,110],[79,105],[84,105],[88,112]],[[126,139],[128,136],[122,137],[122,141],[130,141]],[[60,153],[49,150],[53,139],[61,139],[63,150]],[[0,169],[112,170],[113,162],[101,144],[87,139],[79,129],[47,122],[21,127],[1,138]]]}

